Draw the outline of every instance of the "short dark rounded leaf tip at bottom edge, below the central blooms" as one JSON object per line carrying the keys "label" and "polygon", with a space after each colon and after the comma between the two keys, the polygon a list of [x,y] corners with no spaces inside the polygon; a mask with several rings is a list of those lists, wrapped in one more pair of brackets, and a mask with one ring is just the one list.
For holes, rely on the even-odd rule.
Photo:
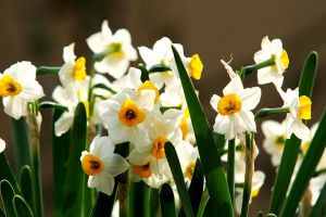
{"label": "short dark rounded leaf tip at bottom edge, below the central blooms", "polygon": [[176,217],[173,191],[168,183],[164,183],[160,191],[162,217]]}

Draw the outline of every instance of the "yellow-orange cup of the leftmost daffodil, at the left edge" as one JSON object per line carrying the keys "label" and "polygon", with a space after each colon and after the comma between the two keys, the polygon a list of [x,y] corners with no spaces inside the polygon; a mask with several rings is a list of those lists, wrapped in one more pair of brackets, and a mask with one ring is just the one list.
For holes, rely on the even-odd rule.
{"label": "yellow-orange cup of the leftmost daffodil, at the left edge", "polygon": [[0,97],[13,97],[20,94],[22,86],[11,76],[4,75],[0,78]]}

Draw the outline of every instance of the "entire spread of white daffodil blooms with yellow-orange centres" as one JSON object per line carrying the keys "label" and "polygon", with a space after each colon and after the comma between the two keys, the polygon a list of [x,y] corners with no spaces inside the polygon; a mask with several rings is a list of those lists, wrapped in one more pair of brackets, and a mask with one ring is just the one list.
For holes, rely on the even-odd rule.
{"label": "entire spread of white daffodil blooms with yellow-orange centres", "polygon": [[[106,21],[102,23],[101,31],[91,35],[86,42],[93,52],[90,61],[76,55],[75,43],[71,43],[63,48],[63,65],[57,71],[50,69],[55,71],[60,80],[52,92],[54,102],[50,105],[62,111],[53,126],[57,138],[70,133],[78,105],[83,103],[85,106],[88,144],[80,153],[80,168],[88,176],[88,187],[111,195],[116,189],[117,176],[124,174],[127,182],[142,181],[153,189],[168,183],[175,189],[165,154],[167,142],[176,150],[184,180],[189,184],[197,162],[201,161],[200,149],[172,47],[179,54],[188,76],[195,80],[202,76],[200,56],[186,56],[183,46],[173,43],[167,37],[158,40],[152,48],[135,49],[128,30],[118,29],[113,34]],[[289,58],[281,41],[271,41],[265,37],[261,46],[253,56],[255,64],[243,67],[241,72],[235,72],[229,63],[221,61],[230,80],[222,94],[213,94],[210,101],[216,112],[212,131],[225,139],[225,146],[218,152],[222,161],[235,171],[236,188],[231,194],[236,195],[234,206],[237,213],[241,212],[242,200],[246,200],[246,177],[251,177],[249,203],[259,194],[266,177],[263,171],[254,170],[260,143],[253,139],[249,144],[250,139],[247,139],[248,135],[248,138],[250,135],[254,138],[258,131],[254,110],[262,90],[260,87],[244,87],[244,75],[258,69],[258,84],[273,84],[284,101],[283,105],[271,110],[286,113],[285,120],[262,124],[265,135],[262,146],[271,154],[274,166],[280,164],[286,140],[296,136],[302,140],[297,162],[299,167],[316,130],[316,125],[310,130],[304,122],[311,119],[311,99],[299,95],[298,88],[284,91],[284,73],[289,66]],[[141,63],[130,66],[138,53]],[[0,97],[8,115],[15,119],[36,115],[40,125],[38,108],[45,93],[36,80],[37,71],[39,68],[29,62],[10,66],[0,74]],[[234,156],[229,154],[230,143],[235,144]],[[117,146],[126,148],[126,153],[120,153]],[[0,153],[4,148],[5,143],[0,139]],[[234,165],[229,165],[229,156],[234,157]],[[316,173],[325,170],[325,164],[326,152]],[[326,180],[325,173],[321,174],[310,182],[312,204]]]}

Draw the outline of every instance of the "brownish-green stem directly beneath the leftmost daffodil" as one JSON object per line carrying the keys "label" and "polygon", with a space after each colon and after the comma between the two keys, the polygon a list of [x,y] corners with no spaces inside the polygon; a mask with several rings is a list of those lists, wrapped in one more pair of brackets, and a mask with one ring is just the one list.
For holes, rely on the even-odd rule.
{"label": "brownish-green stem directly beneath the leftmost daffodil", "polygon": [[33,180],[35,189],[35,216],[43,216],[43,196],[42,196],[42,183],[41,183],[41,167],[40,167],[40,143],[39,143],[39,126],[37,123],[37,103],[30,103],[27,124],[30,133],[30,148],[32,148],[32,165],[33,165]]}

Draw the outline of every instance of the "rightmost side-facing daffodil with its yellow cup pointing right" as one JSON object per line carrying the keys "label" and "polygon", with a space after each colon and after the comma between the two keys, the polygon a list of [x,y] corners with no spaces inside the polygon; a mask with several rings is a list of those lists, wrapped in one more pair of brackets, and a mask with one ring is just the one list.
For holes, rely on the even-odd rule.
{"label": "rightmost side-facing daffodil with its yellow cup pointing right", "polygon": [[311,119],[311,100],[306,95],[299,98],[299,88],[288,89],[287,92],[277,88],[277,91],[284,101],[283,107],[288,107],[290,111],[285,119],[287,139],[294,133],[301,140],[309,140],[310,130],[302,123],[302,119]]}

